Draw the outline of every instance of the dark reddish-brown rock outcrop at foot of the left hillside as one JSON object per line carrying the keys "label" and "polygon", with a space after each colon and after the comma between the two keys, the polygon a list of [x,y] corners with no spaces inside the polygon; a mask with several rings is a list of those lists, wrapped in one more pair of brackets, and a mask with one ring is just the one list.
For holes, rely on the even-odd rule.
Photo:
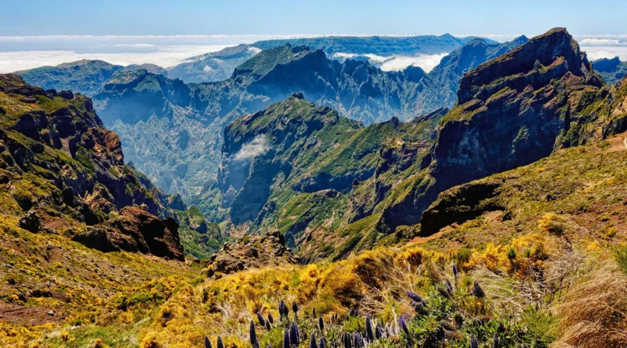
{"label": "dark reddish-brown rock outcrop at foot of the left hillside", "polygon": [[[178,239],[178,224],[171,217],[160,219],[139,207],[125,207],[118,217],[96,227],[102,228],[111,244],[123,251],[185,260],[183,246]],[[104,240],[102,233],[93,237],[99,240],[93,242],[92,245],[101,244],[108,248],[106,243],[101,242]],[[86,238],[78,239],[78,241],[82,242],[84,239]]]}

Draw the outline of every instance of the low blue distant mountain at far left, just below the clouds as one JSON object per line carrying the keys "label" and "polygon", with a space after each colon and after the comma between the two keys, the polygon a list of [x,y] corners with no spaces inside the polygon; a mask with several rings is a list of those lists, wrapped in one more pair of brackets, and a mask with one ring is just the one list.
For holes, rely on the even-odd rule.
{"label": "low blue distant mountain at far left, just below the clouds", "polygon": [[24,81],[44,89],[72,90],[87,97],[100,92],[104,83],[109,81],[116,72],[127,72],[144,69],[153,74],[167,74],[160,66],[154,64],[113,65],[105,61],[84,59],[72,63],[44,66],[31,70],[16,72]]}

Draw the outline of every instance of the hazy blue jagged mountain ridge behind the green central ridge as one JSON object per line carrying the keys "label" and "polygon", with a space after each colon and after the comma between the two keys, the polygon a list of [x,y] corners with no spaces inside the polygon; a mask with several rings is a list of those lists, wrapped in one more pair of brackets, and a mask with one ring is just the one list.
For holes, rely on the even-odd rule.
{"label": "hazy blue jagged mountain ridge behind the green central ridge", "polygon": [[417,67],[383,72],[368,62],[340,63],[320,49],[284,45],[253,56],[229,79],[208,84],[186,85],[148,70],[116,72],[93,99],[104,124],[121,136],[127,159],[165,191],[189,200],[215,180],[220,129],[237,116],[298,90],[365,124],[410,120],[453,106],[464,72],[526,40],[470,40],[429,74]]}

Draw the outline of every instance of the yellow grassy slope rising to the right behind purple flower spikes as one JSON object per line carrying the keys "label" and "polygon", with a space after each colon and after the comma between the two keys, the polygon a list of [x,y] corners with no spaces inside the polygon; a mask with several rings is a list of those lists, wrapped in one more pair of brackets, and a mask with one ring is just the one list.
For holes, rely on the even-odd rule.
{"label": "yellow grassy slope rising to the right behind purple flower spikes", "polygon": [[[339,262],[242,271],[217,280],[170,279],[166,283],[173,291],[166,299],[126,300],[127,306],[120,305],[124,301],[119,296],[105,301],[95,321],[111,319],[101,331],[71,328],[70,323],[61,324],[62,331],[73,342],[100,335],[109,345],[132,336],[143,347],[197,347],[204,335],[213,342],[215,335],[222,335],[227,343],[243,346],[253,313],[277,318],[277,303],[284,299],[299,303],[304,335],[314,330],[307,313],[315,307],[327,323],[327,339],[333,340],[343,331],[363,331],[365,314],[384,324],[403,313],[411,315],[414,310],[404,293],[413,290],[428,304],[427,312],[409,324],[417,344],[433,337],[443,320],[454,328],[447,329],[452,330],[451,347],[467,347],[471,333],[491,344],[499,324],[506,328],[500,337],[507,346],[547,347],[555,341],[624,345],[621,313],[627,303],[621,289],[627,276],[613,252],[626,235],[627,175],[621,165],[627,149],[621,140],[560,150],[486,178],[502,182],[496,199],[503,212],[486,212],[404,248],[376,248]],[[442,280],[454,280],[451,263],[461,274],[452,299],[445,299],[437,289]],[[483,287],[485,299],[470,294],[473,280]],[[353,306],[358,315],[346,316]],[[330,323],[333,313],[341,315],[340,323]],[[455,315],[462,316],[462,329],[452,324]],[[275,323],[271,331],[257,326],[262,345],[279,345],[283,326]],[[117,335],[109,338],[111,328]],[[404,345],[407,339],[400,333],[373,347]],[[60,344],[61,338],[49,335],[45,342]]]}

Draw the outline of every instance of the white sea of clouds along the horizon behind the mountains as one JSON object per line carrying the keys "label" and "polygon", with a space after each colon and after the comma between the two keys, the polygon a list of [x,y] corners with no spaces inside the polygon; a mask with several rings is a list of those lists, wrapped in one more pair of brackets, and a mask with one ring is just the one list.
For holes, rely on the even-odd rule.
{"label": "white sea of clouds along the horizon behind the mountains", "polygon": [[[42,35],[0,36],[0,73],[59,65],[81,59],[100,59],[113,64],[153,63],[171,67],[224,47],[252,43],[258,40],[315,37],[318,35]],[[365,36],[365,35],[359,35]],[[463,37],[466,35],[456,35]],[[518,35],[479,35],[499,42]],[[527,35],[531,37],[532,35]],[[627,61],[626,35],[573,35],[591,60],[619,56]],[[403,70],[410,65],[426,72],[440,63],[441,54],[418,56],[366,55],[382,70]],[[351,52],[337,54],[339,58],[355,56]],[[338,58],[337,56],[335,58]]]}

